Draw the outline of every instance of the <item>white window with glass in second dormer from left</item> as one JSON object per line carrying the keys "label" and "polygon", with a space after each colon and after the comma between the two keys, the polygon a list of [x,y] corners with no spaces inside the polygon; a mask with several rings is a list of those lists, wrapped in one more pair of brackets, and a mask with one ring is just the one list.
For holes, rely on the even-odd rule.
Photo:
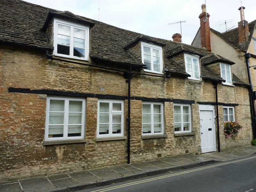
{"label": "white window with glass in second dormer from left", "polygon": [[142,63],[148,67],[144,71],[152,73],[163,72],[162,47],[141,42]]}

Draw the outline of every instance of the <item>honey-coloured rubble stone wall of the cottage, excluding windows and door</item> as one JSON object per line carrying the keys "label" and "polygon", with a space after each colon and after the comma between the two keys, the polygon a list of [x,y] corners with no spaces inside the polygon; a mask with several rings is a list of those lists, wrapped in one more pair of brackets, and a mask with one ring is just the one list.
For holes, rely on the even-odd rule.
{"label": "honey-coloured rubble stone wall of the cottage, excluding windows and door", "polygon": [[[112,66],[114,67],[114,66]],[[46,95],[10,93],[9,87],[127,96],[122,73],[68,62],[47,60],[44,53],[0,47],[0,180],[72,172],[125,164],[127,140],[96,141],[97,98],[86,98],[86,143],[43,145]],[[134,75],[131,95],[148,98],[195,100],[191,104],[192,132],[174,136],[173,103],[164,102],[166,138],[142,139],[142,101],[131,100],[131,162],[189,154],[201,154],[199,105],[215,102],[211,82]],[[219,106],[221,150],[249,145],[252,127],[248,90],[218,85],[219,102],[237,103],[236,120],[244,127],[236,137],[225,139],[223,106]],[[124,119],[127,118],[124,100]],[[124,122],[124,136],[127,123]],[[217,129],[216,129],[217,137]],[[217,138],[216,138],[217,140]]]}

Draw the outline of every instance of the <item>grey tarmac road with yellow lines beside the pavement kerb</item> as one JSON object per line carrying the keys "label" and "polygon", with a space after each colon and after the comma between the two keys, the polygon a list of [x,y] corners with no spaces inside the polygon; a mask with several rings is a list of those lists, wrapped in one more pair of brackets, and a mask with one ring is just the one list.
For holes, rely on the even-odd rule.
{"label": "grey tarmac road with yellow lines beside the pavement kerb", "polygon": [[256,192],[256,155],[80,192]]}

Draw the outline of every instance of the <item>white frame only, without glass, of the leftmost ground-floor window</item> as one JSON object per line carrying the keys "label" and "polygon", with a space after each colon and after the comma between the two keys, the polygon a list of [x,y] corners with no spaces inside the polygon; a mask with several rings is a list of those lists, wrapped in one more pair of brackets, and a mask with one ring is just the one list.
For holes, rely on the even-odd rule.
{"label": "white frame only, without glass, of the leftmost ground-floor window", "polygon": [[[50,100],[64,100],[64,129],[63,129],[63,137],[55,137],[55,138],[48,138],[49,133],[49,109],[50,109]],[[68,137],[68,102],[69,101],[82,101],[82,130],[81,136],[77,137]],[[72,98],[72,97],[47,97],[46,99],[46,115],[45,115],[45,141],[52,141],[52,140],[76,140],[76,139],[84,139],[84,126],[85,126],[85,99],[84,98]]]}

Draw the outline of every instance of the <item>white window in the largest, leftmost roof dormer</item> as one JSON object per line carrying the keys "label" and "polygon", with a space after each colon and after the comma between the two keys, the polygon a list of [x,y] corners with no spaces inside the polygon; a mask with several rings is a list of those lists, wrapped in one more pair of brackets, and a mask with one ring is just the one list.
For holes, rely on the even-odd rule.
{"label": "white window in the largest, leftmost roof dormer", "polygon": [[54,55],[89,59],[89,26],[54,19]]}

